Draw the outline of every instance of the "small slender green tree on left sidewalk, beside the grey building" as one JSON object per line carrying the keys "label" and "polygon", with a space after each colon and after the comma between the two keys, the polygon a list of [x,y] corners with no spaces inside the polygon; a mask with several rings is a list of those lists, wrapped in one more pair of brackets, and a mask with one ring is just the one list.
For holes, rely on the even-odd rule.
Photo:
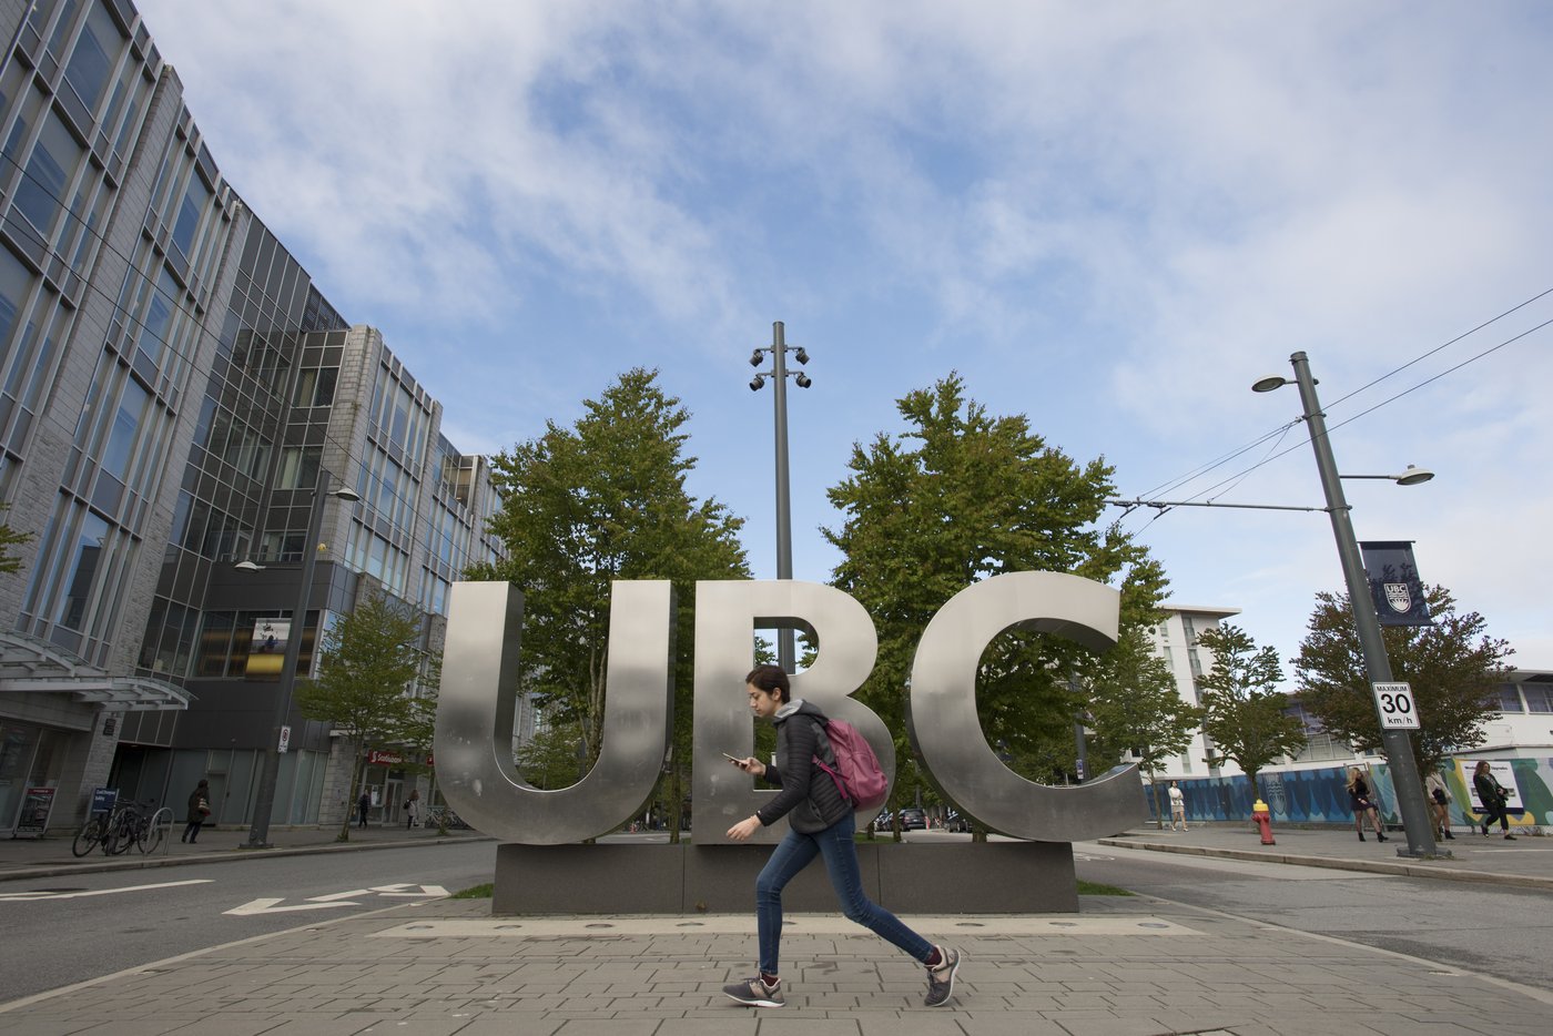
{"label": "small slender green tree on left sidewalk, beside the grey building", "polygon": [[[307,719],[328,722],[349,738],[354,750],[351,792],[356,801],[367,747],[398,744],[410,718],[410,682],[421,668],[421,621],[385,593],[367,593],[323,634],[317,679],[297,688],[297,707]],[[351,811],[340,823],[340,842],[351,839]]]}

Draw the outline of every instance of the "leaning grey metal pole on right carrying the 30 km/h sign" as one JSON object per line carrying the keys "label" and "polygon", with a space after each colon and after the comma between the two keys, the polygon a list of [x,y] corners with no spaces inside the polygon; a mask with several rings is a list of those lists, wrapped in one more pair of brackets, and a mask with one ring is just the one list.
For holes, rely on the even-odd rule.
{"label": "leaning grey metal pole on right carrying the 30 km/h sign", "polygon": [[[1311,377],[1311,365],[1305,353],[1295,353],[1289,362],[1294,365],[1294,384],[1300,387],[1300,402],[1305,405],[1311,449],[1315,450],[1315,468],[1322,475],[1322,491],[1326,494],[1326,513],[1332,519],[1332,537],[1337,541],[1337,556],[1348,582],[1348,604],[1354,612],[1365,671],[1371,683],[1390,683],[1391,660],[1385,654],[1385,638],[1381,635],[1381,620],[1374,614],[1374,601],[1370,600],[1370,578],[1365,575],[1364,559],[1359,555],[1359,541],[1354,539],[1348,500],[1343,499],[1342,477],[1337,474],[1337,461],[1332,460],[1332,444],[1326,436],[1326,415],[1322,413],[1320,399],[1315,396],[1315,379]],[[1253,388],[1272,391],[1286,384],[1289,384],[1286,379],[1264,379],[1256,382]],[[1376,707],[1376,716],[1379,718],[1379,707]],[[1384,718],[1381,718],[1381,742],[1385,758],[1391,763],[1396,805],[1402,812],[1402,829],[1407,834],[1407,848],[1399,847],[1396,854],[1449,856],[1435,845],[1435,826],[1429,817],[1429,805],[1424,801],[1424,784],[1418,777],[1418,760],[1413,758],[1413,744],[1407,732],[1387,728]]]}

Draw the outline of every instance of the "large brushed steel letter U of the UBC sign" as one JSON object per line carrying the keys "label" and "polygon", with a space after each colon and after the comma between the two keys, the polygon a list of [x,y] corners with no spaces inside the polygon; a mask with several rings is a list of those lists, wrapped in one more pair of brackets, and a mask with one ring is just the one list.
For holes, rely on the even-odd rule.
{"label": "large brushed steel letter U of the UBC sign", "polygon": [[562,845],[609,834],[652,797],[674,708],[674,589],[666,579],[610,590],[609,668],[598,763],[554,791],[512,766],[523,595],[508,582],[455,582],[436,702],[436,775],[471,826],[505,842]]}

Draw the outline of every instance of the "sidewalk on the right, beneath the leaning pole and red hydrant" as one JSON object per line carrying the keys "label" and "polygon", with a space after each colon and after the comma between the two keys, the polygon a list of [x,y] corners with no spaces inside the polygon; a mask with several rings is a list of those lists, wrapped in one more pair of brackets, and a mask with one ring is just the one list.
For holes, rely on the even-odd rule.
{"label": "sidewalk on the right, beneath the leaning pole and red hydrant", "polygon": [[1263,845],[1250,823],[1193,825],[1188,831],[1148,825],[1100,839],[1100,845],[1553,890],[1548,837],[1520,834],[1506,842],[1497,828],[1486,839],[1475,829],[1457,828],[1455,840],[1440,842],[1441,850],[1451,851],[1449,859],[1421,860],[1396,854],[1399,847],[1407,848],[1401,831],[1388,831],[1387,842],[1376,842],[1374,833],[1365,833],[1360,842],[1353,829],[1336,828],[1273,828],[1272,836],[1275,845]]}

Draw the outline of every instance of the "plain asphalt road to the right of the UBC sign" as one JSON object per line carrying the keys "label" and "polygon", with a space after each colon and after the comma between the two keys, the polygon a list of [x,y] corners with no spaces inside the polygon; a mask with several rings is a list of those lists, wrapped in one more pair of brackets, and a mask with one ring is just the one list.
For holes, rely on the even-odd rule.
{"label": "plain asphalt road to the right of the UBC sign", "polygon": [[1075,845],[1078,876],[1553,989],[1548,893]]}

